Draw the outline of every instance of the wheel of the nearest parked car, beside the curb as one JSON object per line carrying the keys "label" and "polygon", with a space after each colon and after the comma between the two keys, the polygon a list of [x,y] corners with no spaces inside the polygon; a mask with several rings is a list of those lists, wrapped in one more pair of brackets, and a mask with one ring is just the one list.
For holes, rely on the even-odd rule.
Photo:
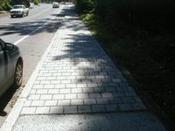
{"label": "wheel of the nearest parked car, beside the curb", "polygon": [[15,68],[14,87],[19,88],[22,85],[22,80],[23,80],[23,62],[22,60],[18,60]]}

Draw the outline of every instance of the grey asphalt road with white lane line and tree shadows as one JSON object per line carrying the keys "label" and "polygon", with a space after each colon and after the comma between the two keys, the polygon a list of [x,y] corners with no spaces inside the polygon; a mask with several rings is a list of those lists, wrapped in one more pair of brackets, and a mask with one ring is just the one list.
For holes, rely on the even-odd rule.
{"label": "grey asphalt road with white lane line and tree shadows", "polygon": [[30,9],[27,17],[0,17],[0,38],[17,45],[24,59],[23,86],[18,90],[9,89],[0,98],[0,126],[59,28],[61,21],[57,19],[57,14],[60,10],[53,9],[51,4],[40,4]]}

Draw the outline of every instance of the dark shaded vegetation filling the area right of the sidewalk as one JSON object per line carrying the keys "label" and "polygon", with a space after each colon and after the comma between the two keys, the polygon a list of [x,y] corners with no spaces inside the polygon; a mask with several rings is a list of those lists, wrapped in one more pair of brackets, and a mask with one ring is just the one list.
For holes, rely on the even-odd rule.
{"label": "dark shaded vegetation filling the area right of the sidewalk", "polygon": [[175,2],[76,0],[81,19],[175,122]]}

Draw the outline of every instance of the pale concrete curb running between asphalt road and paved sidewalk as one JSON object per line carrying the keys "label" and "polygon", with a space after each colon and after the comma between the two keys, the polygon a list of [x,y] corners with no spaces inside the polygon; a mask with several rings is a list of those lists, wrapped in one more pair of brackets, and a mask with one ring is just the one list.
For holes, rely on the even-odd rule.
{"label": "pale concrete curb running between asphalt road and paved sidewalk", "polygon": [[51,41],[49,47],[46,49],[44,55],[42,56],[42,58],[39,61],[38,65],[36,66],[34,72],[32,73],[32,75],[31,75],[30,79],[28,80],[24,90],[22,91],[21,95],[19,96],[16,104],[14,105],[13,109],[11,110],[10,114],[8,115],[8,117],[5,120],[4,124],[2,125],[0,131],[11,131],[12,130],[16,120],[18,119],[18,117],[20,115],[20,112],[21,112],[21,109],[22,109],[22,107],[25,103],[25,100],[26,100],[26,98],[27,98],[27,96],[28,96],[28,94],[31,90],[33,82],[37,77],[37,73],[38,73],[40,67],[42,66],[42,63],[43,63],[44,59],[46,58],[53,42],[55,41],[58,32],[59,31],[57,30],[54,37],[52,38],[52,41]]}

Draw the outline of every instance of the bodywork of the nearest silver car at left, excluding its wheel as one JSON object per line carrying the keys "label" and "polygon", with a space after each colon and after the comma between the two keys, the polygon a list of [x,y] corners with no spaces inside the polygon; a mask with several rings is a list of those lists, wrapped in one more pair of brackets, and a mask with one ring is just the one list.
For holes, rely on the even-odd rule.
{"label": "bodywork of the nearest silver car at left, excluding its wheel", "polygon": [[17,46],[0,39],[0,96],[14,83],[16,64],[21,59]]}

